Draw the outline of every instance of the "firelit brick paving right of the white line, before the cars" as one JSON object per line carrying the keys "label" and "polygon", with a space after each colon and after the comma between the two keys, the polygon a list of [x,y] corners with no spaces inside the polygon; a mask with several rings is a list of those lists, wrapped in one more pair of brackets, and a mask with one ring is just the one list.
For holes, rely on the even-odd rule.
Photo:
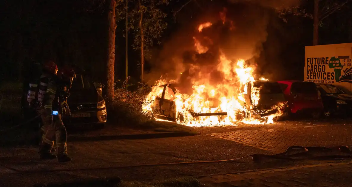
{"label": "firelit brick paving right of the white line, before the cars", "polygon": [[213,133],[210,136],[236,141],[259,149],[280,153],[289,146],[351,146],[351,125],[315,126]]}

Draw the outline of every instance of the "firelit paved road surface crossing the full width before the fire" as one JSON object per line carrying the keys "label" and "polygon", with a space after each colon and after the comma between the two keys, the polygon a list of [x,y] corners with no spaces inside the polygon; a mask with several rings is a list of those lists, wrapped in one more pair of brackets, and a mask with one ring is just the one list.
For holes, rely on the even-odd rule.
{"label": "firelit paved road surface crossing the full width before the fire", "polygon": [[[234,162],[121,168],[121,166],[141,164],[232,159],[253,153],[274,154],[287,148],[284,146],[304,145],[307,142],[307,145],[326,145],[330,142],[332,142],[331,145],[347,144],[350,142],[351,129],[351,125],[328,125],[290,127],[287,130],[268,128],[235,131],[215,133],[212,136],[69,142],[69,152],[74,160],[66,164],[58,164],[57,161],[40,161],[37,147],[1,148],[1,164],[24,173],[0,167],[0,186],[30,186],[46,180],[103,176],[120,176],[124,180],[151,180],[319,164],[321,162],[318,161],[278,160],[254,164],[251,158],[245,158]],[[220,136],[222,138],[219,138]],[[307,138],[304,139],[304,137]],[[275,139],[277,140],[274,143]],[[275,144],[278,148],[274,146],[270,150],[272,146],[269,148],[267,143]],[[47,172],[53,169],[55,171]]]}

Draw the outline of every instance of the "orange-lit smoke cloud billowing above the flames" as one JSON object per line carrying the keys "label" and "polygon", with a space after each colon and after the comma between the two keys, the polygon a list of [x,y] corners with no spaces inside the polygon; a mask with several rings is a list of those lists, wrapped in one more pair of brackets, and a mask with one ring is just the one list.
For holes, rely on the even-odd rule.
{"label": "orange-lit smoke cloud billowing above the flames", "polygon": [[[266,30],[272,9],[297,6],[299,0],[228,2],[226,8],[214,7],[216,11],[206,12],[196,21],[182,26],[163,44],[162,50],[154,51],[150,60],[151,71],[145,76],[149,84],[161,76],[182,82],[197,78],[192,72],[194,65],[201,67],[201,71],[211,72],[212,79],[216,81],[220,79],[216,77],[220,50],[230,60],[244,59],[247,64],[255,66],[255,58],[263,51],[263,43],[268,36]],[[195,43],[200,45],[195,46]]]}

